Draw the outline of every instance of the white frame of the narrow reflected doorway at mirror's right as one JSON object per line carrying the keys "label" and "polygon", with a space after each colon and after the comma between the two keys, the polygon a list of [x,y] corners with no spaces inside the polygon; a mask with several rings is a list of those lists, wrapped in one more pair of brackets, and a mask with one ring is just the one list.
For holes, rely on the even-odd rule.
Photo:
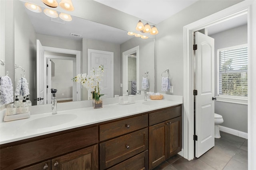
{"label": "white frame of the narrow reflected doorway at mirror's right", "polygon": [[126,89],[128,89],[128,55],[136,52],[136,83],[137,90],[140,89],[140,70],[139,70],[139,46],[133,47],[127,51],[123,52],[123,94],[126,94]]}

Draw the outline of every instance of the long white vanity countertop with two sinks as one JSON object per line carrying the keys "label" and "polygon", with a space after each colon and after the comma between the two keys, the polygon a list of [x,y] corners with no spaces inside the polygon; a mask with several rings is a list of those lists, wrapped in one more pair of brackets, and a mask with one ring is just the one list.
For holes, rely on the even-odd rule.
{"label": "long white vanity countertop with two sinks", "polygon": [[[105,101],[105,100],[104,100]],[[116,101],[116,100],[115,100]],[[150,99],[148,100],[150,101]],[[148,102],[147,101],[147,102]],[[108,121],[112,119],[117,119],[121,117],[126,117],[130,115],[136,115],[139,113],[144,113],[147,111],[152,111],[155,109],[161,109],[170,106],[176,106],[183,103],[182,96],[174,95],[164,95],[163,100],[152,100],[150,102],[156,102],[152,105],[143,104],[144,100],[136,100],[135,104],[129,105],[119,105],[111,104],[106,100],[106,105],[103,108],[94,109],[93,107],[84,107],[77,109],[69,109],[58,111],[56,115],[52,113],[41,113],[41,114],[31,114],[28,119],[21,119],[10,122],[0,123],[0,144],[10,143],[14,141],[19,141],[22,139],[28,139],[32,137],[37,137],[40,135],[46,135],[50,133],[55,133],[59,131],[64,131],[67,129],[72,129],[76,127],[82,127],[86,125],[92,125],[94,123],[100,123],[103,121]],[[34,111],[35,109],[33,109]],[[48,116],[59,116],[63,114],[75,115],[72,121],[63,123],[60,125],[38,128],[35,129],[28,122],[34,119],[48,117]],[[30,126],[29,126],[30,125]]]}

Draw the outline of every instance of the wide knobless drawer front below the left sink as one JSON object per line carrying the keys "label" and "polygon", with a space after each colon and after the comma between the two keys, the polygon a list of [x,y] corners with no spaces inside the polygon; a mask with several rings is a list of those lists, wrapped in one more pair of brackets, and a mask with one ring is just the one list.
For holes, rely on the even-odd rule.
{"label": "wide knobless drawer front below the left sink", "polygon": [[58,134],[56,133],[56,136],[1,149],[0,169],[20,168],[98,142],[98,127],[78,131],[74,130],[73,132],[62,135]]}

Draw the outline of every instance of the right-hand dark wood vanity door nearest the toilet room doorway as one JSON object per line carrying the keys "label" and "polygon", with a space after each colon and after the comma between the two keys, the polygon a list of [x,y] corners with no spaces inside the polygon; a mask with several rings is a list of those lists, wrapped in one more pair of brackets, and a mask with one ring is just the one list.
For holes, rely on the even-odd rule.
{"label": "right-hand dark wood vanity door nearest the toilet room doorway", "polygon": [[168,122],[168,158],[181,150],[181,116],[171,119]]}

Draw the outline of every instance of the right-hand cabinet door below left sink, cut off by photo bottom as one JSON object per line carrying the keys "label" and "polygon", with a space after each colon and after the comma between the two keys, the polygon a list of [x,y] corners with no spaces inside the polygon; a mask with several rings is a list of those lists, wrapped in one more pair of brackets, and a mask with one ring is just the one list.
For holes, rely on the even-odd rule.
{"label": "right-hand cabinet door below left sink, cut off by photo bottom", "polygon": [[98,170],[98,145],[52,159],[52,170]]}

